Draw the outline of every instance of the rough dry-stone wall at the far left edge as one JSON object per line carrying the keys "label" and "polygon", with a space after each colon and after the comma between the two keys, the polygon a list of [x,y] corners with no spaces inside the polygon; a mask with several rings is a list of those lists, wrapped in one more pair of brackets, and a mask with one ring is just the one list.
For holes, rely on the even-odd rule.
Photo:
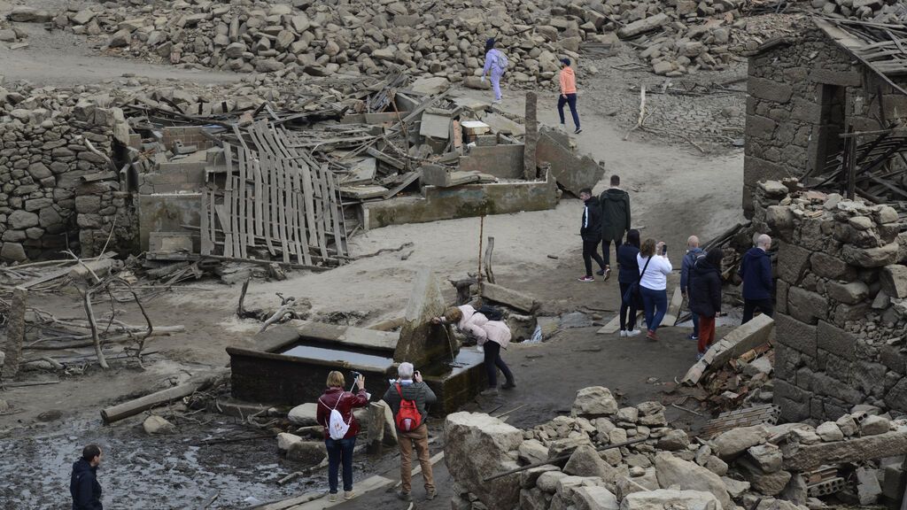
{"label": "rough dry-stone wall at the far left edge", "polygon": [[108,250],[129,250],[131,197],[84,143],[111,154],[116,113],[92,103],[52,112],[26,100],[0,116],[0,260],[58,258],[66,248],[91,257],[109,237]]}

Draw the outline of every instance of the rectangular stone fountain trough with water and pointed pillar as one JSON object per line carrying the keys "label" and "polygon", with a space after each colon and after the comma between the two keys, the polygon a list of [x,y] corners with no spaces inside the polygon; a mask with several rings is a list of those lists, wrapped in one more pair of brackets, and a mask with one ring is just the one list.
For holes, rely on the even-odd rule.
{"label": "rectangular stone fountain trough with water and pointed pillar", "polygon": [[400,332],[293,320],[227,348],[233,397],[260,404],[295,406],[315,402],[327,374],[339,370],[366,376],[373,400],[385,394],[396,367],[410,361],[438,397],[434,415],[446,415],[486,385],[483,355],[460,350],[450,331],[430,324],[444,311],[434,274],[419,272]]}

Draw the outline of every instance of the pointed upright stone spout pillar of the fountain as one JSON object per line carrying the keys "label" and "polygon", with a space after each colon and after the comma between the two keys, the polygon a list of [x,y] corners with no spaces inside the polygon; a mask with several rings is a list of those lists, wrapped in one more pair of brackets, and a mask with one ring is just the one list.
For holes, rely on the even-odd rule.
{"label": "pointed upright stone spout pillar of the fountain", "polygon": [[394,360],[409,361],[416,367],[438,359],[453,358],[453,335],[449,326],[432,324],[432,318],[444,314],[444,298],[432,270],[420,268],[415,275],[413,291],[406,304],[405,320],[400,329]]}

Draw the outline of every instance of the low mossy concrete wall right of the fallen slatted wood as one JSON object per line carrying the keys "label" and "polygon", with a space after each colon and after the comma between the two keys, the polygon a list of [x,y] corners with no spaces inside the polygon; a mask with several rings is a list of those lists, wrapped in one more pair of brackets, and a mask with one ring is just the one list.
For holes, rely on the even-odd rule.
{"label": "low mossy concrete wall right of the fallen slatted wood", "polygon": [[545,211],[553,209],[558,198],[551,173],[545,175],[545,181],[466,184],[456,188],[426,186],[422,196],[363,204],[363,223],[368,229],[376,229],[486,214]]}

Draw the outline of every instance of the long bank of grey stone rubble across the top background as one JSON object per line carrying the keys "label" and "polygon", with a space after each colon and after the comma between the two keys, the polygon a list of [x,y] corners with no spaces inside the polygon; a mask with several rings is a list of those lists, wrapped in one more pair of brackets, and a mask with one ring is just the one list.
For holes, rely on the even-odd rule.
{"label": "long bank of grey stone rubble across the top background", "polygon": [[[73,6],[52,17],[74,34],[105,37],[107,47],[121,54],[311,76],[378,74],[403,66],[414,75],[460,82],[479,74],[485,40],[495,37],[510,60],[509,79],[530,84],[551,82],[559,59],[578,61],[585,44],[610,47],[619,38],[639,47],[657,74],[723,69],[734,58],[730,25],[742,4],[580,0],[552,6],[506,0],[488,8],[477,1],[353,0],[335,7],[308,1],[222,5],[180,0],[141,7]],[[48,18],[28,7],[17,13],[21,21]]]}

